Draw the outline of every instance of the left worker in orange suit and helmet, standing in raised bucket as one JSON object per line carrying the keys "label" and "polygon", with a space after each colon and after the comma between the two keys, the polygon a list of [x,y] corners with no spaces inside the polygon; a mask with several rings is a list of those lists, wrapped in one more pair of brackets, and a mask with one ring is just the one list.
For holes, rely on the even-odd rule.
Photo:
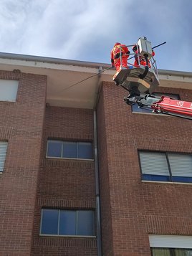
{"label": "left worker in orange suit and helmet, standing in raised bucket", "polygon": [[121,58],[122,66],[128,68],[128,57],[129,57],[130,51],[125,44],[120,44],[119,42],[116,42],[110,52],[112,67],[115,66],[116,70],[120,69],[120,54],[122,57]]}

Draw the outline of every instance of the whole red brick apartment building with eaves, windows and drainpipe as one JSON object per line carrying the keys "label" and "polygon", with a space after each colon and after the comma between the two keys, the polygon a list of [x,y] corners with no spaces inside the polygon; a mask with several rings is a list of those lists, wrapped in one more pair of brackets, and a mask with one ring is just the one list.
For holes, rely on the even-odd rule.
{"label": "whole red brick apartment building with eaves, windows and drainpipe", "polygon": [[[126,105],[107,67],[0,54],[1,255],[191,255],[191,120]],[[192,73],[159,75],[192,102]]]}

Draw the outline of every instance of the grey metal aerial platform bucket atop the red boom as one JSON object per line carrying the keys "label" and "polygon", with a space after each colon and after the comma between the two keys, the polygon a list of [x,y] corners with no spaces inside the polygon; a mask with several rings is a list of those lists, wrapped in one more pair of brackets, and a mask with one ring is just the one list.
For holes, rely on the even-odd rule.
{"label": "grey metal aerial platform bucket atop the red boom", "polygon": [[[128,45],[128,47],[136,47],[137,51],[133,53],[133,57],[135,57],[135,60],[138,60],[138,65],[128,62],[128,67],[123,67],[122,51],[120,48],[120,69],[117,70],[112,80],[133,94],[134,91],[138,94],[153,93],[159,85],[159,79],[151,43],[143,37],[138,39],[138,44]],[[130,59],[133,57],[130,57]],[[148,65],[141,65],[140,60],[143,59],[145,59],[145,63],[148,63]]]}

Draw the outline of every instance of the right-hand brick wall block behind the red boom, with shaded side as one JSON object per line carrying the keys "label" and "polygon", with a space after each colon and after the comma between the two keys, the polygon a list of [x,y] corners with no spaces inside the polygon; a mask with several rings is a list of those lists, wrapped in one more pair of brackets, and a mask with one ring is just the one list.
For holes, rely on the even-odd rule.
{"label": "right-hand brick wall block behind the red boom, with shaded side", "polygon": [[[158,91],[192,101],[191,90]],[[103,249],[105,256],[150,256],[148,234],[192,235],[192,186],[142,182],[138,149],[191,153],[191,120],[132,113],[126,94],[104,82],[97,111]]]}

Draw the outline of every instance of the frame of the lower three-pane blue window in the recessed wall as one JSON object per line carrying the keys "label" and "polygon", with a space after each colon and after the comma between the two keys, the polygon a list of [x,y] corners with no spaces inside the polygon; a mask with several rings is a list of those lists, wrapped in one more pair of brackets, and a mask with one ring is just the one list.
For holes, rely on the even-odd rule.
{"label": "frame of the lower three-pane blue window in the recessed wall", "polygon": [[[52,210],[57,210],[58,211],[58,221],[57,221],[57,234],[44,234],[42,233],[42,222],[43,222],[43,214],[44,210],[46,209],[52,209]],[[76,221],[75,221],[75,233],[76,234],[59,234],[59,224],[60,224],[60,214],[62,211],[69,211],[69,212],[75,212],[76,214]],[[77,234],[78,233],[78,212],[92,212],[93,217],[94,217],[94,223],[92,227],[93,235],[82,235],[82,234]],[[41,209],[41,215],[40,215],[40,228],[39,228],[39,236],[44,236],[44,237],[96,237],[96,232],[95,232],[95,210],[94,209],[56,209],[56,208],[42,208]]]}

